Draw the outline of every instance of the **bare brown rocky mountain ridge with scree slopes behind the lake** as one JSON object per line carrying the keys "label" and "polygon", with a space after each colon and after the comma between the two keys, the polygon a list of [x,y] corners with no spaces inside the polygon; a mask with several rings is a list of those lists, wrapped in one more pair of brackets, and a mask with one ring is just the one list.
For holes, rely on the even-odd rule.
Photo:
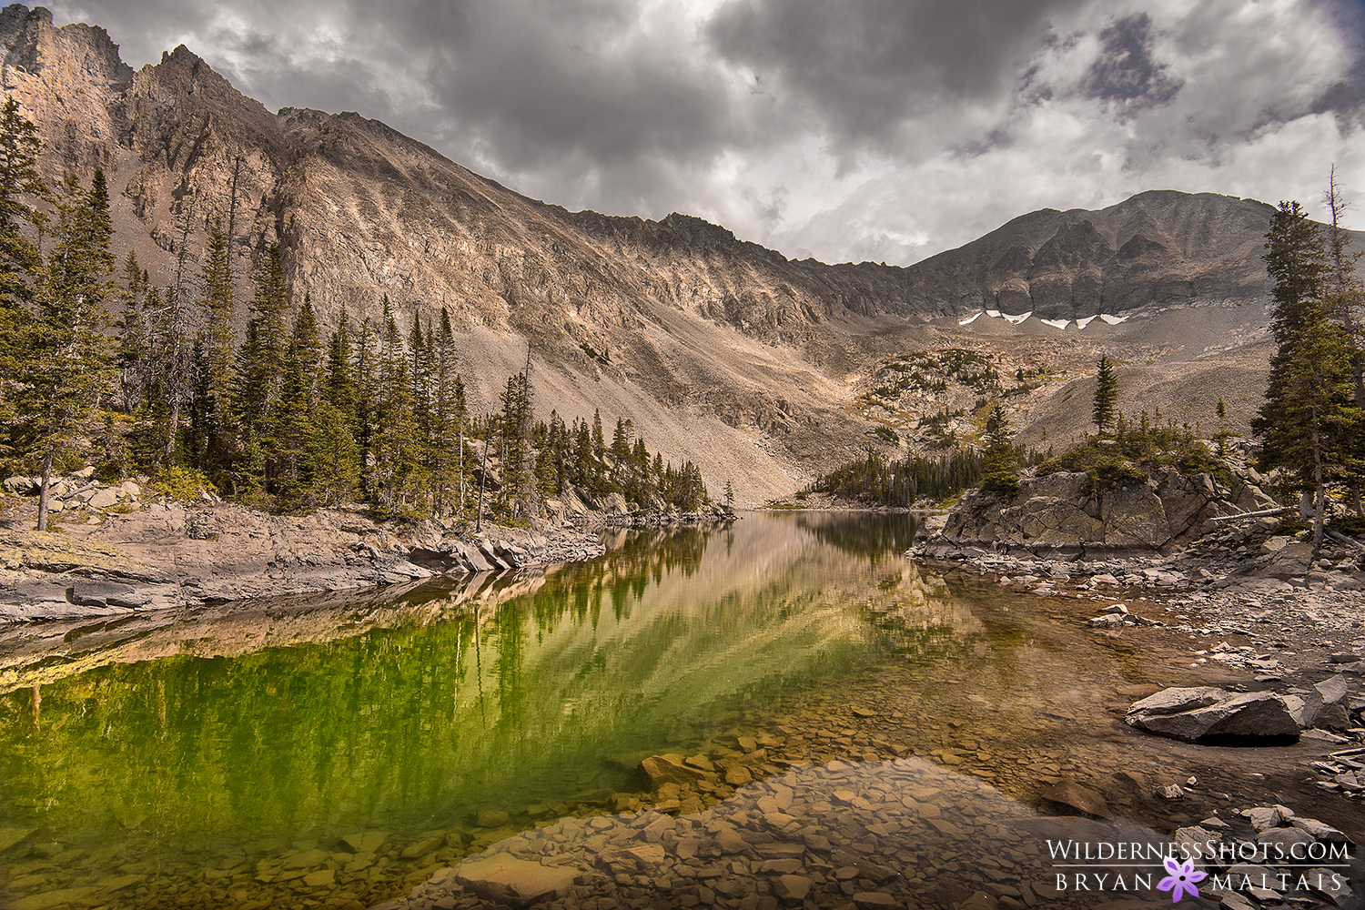
{"label": "bare brown rocky mountain ridge with scree slopes behind the lake", "polygon": [[[528,199],[356,113],[272,113],[184,46],[135,72],[102,29],[53,27],[41,7],[0,11],[0,53],[46,175],[102,166],[116,252],[132,247],[154,282],[176,280],[187,216],[191,278],[206,218],[231,218],[239,321],[278,239],[325,329],[343,307],[377,315],[384,296],[404,323],[448,307],[475,407],[494,405],[530,344],[542,412],[629,416],[651,449],[700,464],[713,491],[733,478],[749,501],[865,446],[876,419],[853,405],[857,389],[906,351],[1021,359],[1046,342],[1039,356],[1072,364],[1054,375],[1074,378],[1106,345],[1166,356],[1151,329],[1173,308],[1233,307],[1219,334],[1264,325],[1260,202],[1147,192],[1035,211],[909,267],[793,262],[682,214]],[[983,310],[1035,318],[958,325]],[[1153,319],[1039,322],[1097,314]]]}

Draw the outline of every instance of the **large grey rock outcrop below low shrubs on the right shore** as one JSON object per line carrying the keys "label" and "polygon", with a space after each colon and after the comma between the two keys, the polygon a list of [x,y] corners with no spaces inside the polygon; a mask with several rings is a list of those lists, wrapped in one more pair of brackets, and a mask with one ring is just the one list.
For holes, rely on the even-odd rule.
{"label": "large grey rock outcrop below low shrubs on the right shore", "polygon": [[968,491],[923,551],[946,555],[964,547],[1022,548],[1099,555],[1170,553],[1212,528],[1216,516],[1274,506],[1252,479],[1159,469],[1147,483],[1093,490],[1087,473],[1025,476],[1016,497]]}

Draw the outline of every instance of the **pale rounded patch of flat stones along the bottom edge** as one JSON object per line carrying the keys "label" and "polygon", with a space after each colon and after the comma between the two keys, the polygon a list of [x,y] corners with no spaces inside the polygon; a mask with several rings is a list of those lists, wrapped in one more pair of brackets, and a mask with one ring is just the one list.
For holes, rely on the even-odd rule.
{"label": "pale rounded patch of flat stones along the bottom edge", "polygon": [[[1084,790],[1054,787],[1062,801],[1084,799],[1104,813],[1103,799],[1091,802],[1095,794]],[[1152,887],[1164,875],[1160,860],[1148,864],[1147,875],[1112,855],[1110,862],[1076,862],[1080,855],[1059,862],[1052,845],[1063,843],[1143,845],[1152,855],[1212,847],[1218,857],[1222,850],[1226,858],[1197,864],[1219,876],[1200,894],[1228,910],[1254,906],[1242,896],[1248,887],[1261,900],[1287,899],[1304,909],[1350,899],[1349,873],[1327,868],[1334,861],[1325,858],[1346,849],[1346,835],[1284,806],[1253,806],[1228,820],[1215,814],[1174,836],[1106,821],[1096,813],[1084,816],[1041,816],[976,778],[923,759],[833,761],[751,784],[723,806],[696,814],[564,819],[521,832],[438,872],[408,898],[374,910],[532,903],[565,910],[1022,910],[1143,906],[1133,903],[1134,895],[1164,896]],[[1305,855],[1323,857],[1321,865],[1278,862],[1269,858],[1276,845],[1297,845]],[[1256,861],[1257,849],[1268,857]],[[1121,888],[1115,888],[1118,876],[1126,879]]]}

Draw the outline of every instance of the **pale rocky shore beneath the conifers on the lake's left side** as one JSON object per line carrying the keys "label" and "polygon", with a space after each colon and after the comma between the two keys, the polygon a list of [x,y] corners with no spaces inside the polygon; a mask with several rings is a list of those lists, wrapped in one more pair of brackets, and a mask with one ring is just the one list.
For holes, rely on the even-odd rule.
{"label": "pale rocky shore beneath the conifers on the lake's left side", "polygon": [[246,598],[403,584],[437,574],[538,569],[591,559],[598,535],[572,524],[396,524],[360,508],[269,514],[203,494],[149,494],[89,476],[53,484],[56,533],[29,531],[31,479],[0,497],[0,622],[113,617]]}

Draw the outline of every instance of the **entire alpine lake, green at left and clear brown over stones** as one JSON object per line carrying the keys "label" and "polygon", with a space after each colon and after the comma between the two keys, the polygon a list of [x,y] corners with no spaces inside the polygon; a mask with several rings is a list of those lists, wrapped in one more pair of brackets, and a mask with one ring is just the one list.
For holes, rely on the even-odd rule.
{"label": "entire alpine lake, green at left and clear brown over stones", "polygon": [[[1041,793],[1067,780],[1167,838],[1271,802],[1350,830],[1358,806],[1304,782],[1305,744],[1123,723],[1163,686],[1241,679],[1192,666],[1208,645],[1096,634],[1100,604],[1074,592],[928,569],[904,555],[915,521],[758,513],[610,532],[605,557],[547,572],[4,630],[0,909],[354,910],[505,842],[550,862],[547,835],[575,824],[753,831],[784,790],[773,824],[807,858],[710,857],[719,872],[674,880],[667,906],[962,906],[983,888],[990,906],[1153,906],[1046,892],[1047,825],[1081,821]],[[691,771],[659,783],[650,760]],[[1189,778],[1185,799],[1156,795]],[[801,787],[824,794],[804,817]],[[850,821],[876,799],[895,812]],[[793,900],[770,879],[797,866],[814,884]],[[639,876],[599,872],[562,906],[654,906],[607,896]],[[867,903],[879,891],[898,896]]]}

